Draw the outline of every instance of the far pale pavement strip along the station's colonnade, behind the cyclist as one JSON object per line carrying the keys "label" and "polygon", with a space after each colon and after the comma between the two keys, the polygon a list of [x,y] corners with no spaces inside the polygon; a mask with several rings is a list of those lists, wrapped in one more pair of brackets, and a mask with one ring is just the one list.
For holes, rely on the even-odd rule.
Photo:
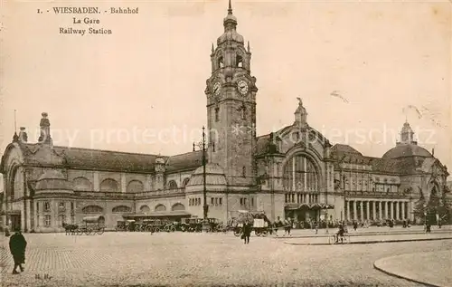
{"label": "far pale pavement strip along the station's colonnade, behind the cyclist", "polygon": [[[326,233],[328,232],[328,233]],[[287,238],[317,238],[317,237],[329,237],[332,234],[335,234],[337,232],[337,228],[329,228],[326,229],[319,229],[317,234],[315,234],[315,229],[292,229],[291,235],[285,235],[284,230],[279,229],[278,230],[278,236],[274,236],[274,238],[281,238],[281,239],[287,239]],[[348,229],[348,233],[350,236],[363,236],[363,235],[382,235],[382,234],[425,234],[424,232],[424,226],[422,225],[414,225],[410,228],[403,228],[401,226],[395,226],[395,227],[376,227],[371,226],[369,228],[358,228],[356,231],[353,230],[353,228]],[[441,228],[438,228],[438,226],[432,226],[431,228],[431,234],[452,234],[452,225],[445,225]]]}

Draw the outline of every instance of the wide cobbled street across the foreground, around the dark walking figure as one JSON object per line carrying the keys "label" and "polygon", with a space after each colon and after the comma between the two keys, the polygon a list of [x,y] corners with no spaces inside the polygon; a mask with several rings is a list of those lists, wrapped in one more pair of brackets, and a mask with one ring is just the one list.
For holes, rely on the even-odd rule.
{"label": "wide cobbled street across the foreground, around the dark walking figure", "polygon": [[243,244],[233,234],[25,236],[25,272],[19,275],[11,274],[3,237],[3,286],[419,286],[375,270],[373,262],[452,249],[450,240],[297,246],[256,236]]}

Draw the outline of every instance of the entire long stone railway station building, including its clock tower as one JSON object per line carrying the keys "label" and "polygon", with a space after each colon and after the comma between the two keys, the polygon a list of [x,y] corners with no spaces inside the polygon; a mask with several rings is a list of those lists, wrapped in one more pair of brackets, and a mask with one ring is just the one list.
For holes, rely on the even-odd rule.
{"label": "entire long stone railway station building, including its clock tower", "polygon": [[202,217],[204,204],[222,222],[240,210],[264,211],[270,220],[414,219],[419,199],[446,194],[447,167],[418,146],[408,123],[396,147],[366,157],[309,126],[298,99],[293,124],[257,137],[250,43],[237,33],[231,6],[223,23],[205,88],[205,187],[202,151],[167,157],[58,147],[42,113],[38,142],[21,128],[2,157],[2,222],[58,232],[62,223],[102,215],[114,228],[123,215]]}

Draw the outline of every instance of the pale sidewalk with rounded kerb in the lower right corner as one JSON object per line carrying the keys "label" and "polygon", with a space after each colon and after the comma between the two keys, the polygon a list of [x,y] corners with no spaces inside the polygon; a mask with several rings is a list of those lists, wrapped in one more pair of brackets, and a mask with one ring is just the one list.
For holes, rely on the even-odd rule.
{"label": "pale sidewalk with rounded kerb in the lower right corner", "polygon": [[383,273],[429,286],[452,286],[452,250],[382,258],[373,267]]}

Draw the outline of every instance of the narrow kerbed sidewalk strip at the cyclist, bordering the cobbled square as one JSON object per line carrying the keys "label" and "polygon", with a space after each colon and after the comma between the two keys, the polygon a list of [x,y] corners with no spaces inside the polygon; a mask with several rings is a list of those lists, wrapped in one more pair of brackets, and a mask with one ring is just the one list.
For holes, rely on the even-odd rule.
{"label": "narrow kerbed sidewalk strip at the cyclist, bordering the cobbled square", "polygon": [[[382,244],[415,241],[452,240],[452,234],[364,234],[345,237],[344,244]],[[333,235],[329,237],[305,237],[288,240],[292,245],[329,245],[334,244]]]}

